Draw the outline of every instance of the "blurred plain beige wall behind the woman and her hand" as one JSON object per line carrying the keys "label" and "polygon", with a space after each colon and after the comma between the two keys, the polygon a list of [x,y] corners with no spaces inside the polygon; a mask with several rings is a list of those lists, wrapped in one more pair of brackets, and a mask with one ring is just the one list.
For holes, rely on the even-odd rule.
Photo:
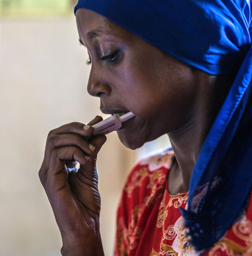
{"label": "blurred plain beige wall behind the woman and her hand", "polygon": [[[86,92],[86,60],[74,17],[0,20],[0,256],[60,255],[59,231],[37,173],[51,129],[100,114],[99,100]],[[147,144],[135,157],[115,133],[107,138],[98,174],[101,234],[109,256],[127,172],[146,148],[164,140]]]}

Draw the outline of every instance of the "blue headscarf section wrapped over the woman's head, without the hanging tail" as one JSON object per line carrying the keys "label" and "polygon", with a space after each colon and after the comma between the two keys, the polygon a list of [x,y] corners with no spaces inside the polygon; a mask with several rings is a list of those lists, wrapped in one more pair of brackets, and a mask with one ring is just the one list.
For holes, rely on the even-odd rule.
{"label": "blue headscarf section wrapped over the woman's head, without the hanging tail", "polygon": [[224,75],[248,50],[252,26],[249,2],[226,2],[79,0],[74,10],[95,11],[182,62]]}

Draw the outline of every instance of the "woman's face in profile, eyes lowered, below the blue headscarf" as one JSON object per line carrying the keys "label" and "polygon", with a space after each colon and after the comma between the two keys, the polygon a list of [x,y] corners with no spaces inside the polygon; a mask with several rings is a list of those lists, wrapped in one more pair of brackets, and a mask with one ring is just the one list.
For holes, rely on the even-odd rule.
{"label": "woman's face in profile, eyes lowered, below the blue headscarf", "polygon": [[135,114],[117,131],[125,146],[139,148],[185,125],[197,93],[193,68],[95,12],[78,9],[76,20],[92,62],[88,92],[105,114]]}

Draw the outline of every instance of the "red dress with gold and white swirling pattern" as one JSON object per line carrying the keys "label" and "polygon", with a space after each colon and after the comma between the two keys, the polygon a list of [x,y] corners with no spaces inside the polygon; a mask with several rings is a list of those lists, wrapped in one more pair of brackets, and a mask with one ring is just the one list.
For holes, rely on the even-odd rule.
{"label": "red dress with gold and white swirling pattern", "polygon": [[[187,242],[178,209],[187,207],[188,192],[168,192],[173,159],[173,151],[165,150],[141,160],[130,172],[117,213],[115,256],[199,255]],[[252,256],[251,200],[245,214],[205,255]]]}

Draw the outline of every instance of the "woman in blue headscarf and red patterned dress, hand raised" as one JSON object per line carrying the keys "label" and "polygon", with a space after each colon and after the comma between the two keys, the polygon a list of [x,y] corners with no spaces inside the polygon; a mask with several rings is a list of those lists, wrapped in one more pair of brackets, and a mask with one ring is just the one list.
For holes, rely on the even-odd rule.
{"label": "woman in blue headscarf and red patterned dress, hand raised", "polygon": [[[135,149],[167,133],[174,151],[130,174],[115,254],[250,255],[250,2],[79,0],[75,13],[92,62],[88,92],[106,114],[135,114],[120,141]],[[106,137],[90,138],[100,120],[48,135],[39,174],[64,256],[104,255],[95,161]],[[168,209],[173,198],[183,205]]]}

